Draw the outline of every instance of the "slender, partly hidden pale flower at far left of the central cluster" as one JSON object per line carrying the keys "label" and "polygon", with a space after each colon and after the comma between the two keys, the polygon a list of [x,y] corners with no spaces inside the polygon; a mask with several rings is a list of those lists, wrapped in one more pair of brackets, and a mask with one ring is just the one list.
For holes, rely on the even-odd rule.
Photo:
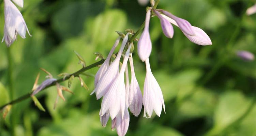
{"label": "slender, partly hidden pale flower at far left of the central cluster", "polygon": [[[116,47],[118,46],[120,41],[120,37],[117,38],[115,44],[113,45],[112,49],[110,50],[106,60],[104,61],[104,63],[101,65],[100,69],[97,71],[96,75],[95,75],[95,80],[94,80],[94,87],[97,86],[97,83],[99,82],[99,80],[101,79],[102,75],[106,72],[106,70],[109,67],[109,61],[111,58],[111,55],[113,54],[113,52],[115,51]],[[94,91],[91,93],[91,95],[94,93]]]}

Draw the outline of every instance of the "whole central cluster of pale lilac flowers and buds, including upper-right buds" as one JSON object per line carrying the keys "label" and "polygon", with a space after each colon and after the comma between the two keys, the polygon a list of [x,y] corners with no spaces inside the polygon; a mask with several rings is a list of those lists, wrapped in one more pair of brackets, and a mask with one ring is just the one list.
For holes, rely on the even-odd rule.
{"label": "whole central cluster of pale lilac flowers and buds, including upper-right buds", "polygon": [[[127,42],[130,33],[123,36],[119,52],[116,55],[115,60],[111,62],[111,56],[120,42],[120,37],[118,37],[105,62],[101,65],[95,75],[95,89],[92,91],[91,95],[95,93],[97,100],[103,97],[100,109],[100,121],[102,126],[105,127],[109,118],[111,118],[111,127],[112,129],[116,129],[119,136],[124,136],[129,126],[130,117],[128,108],[136,117],[140,114],[142,105],[144,105],[144,117],[146,118],[150,118],[153,111],[160,117],[162,108],[165,112],[162,90],[153,76],[149,64],[149,56],[152,50],[149,34],[149,21],[152,14],[160,19],[163,33],[166,37],[172,38],[174,35],[174,29],[171,25],[172,23],[179,27],[184,35],[193,43],[198,45],[212,44],[211,39],[203,30],[192,26],[188,21],[176,17],[164,10],[149,9],[146,13],[144,31],[137,44],[139,58],[142,62],[146,63],[147,71],[144,82],[144,94],[142,97],[135,76],[132,53],[130,53],[133,43]],[[128,48],[124,54],[123,62],[121,66],[119,66],[120,58],[126,45]],[[131,82],[129,80],[127,68],[128,60],[131,67]]]}

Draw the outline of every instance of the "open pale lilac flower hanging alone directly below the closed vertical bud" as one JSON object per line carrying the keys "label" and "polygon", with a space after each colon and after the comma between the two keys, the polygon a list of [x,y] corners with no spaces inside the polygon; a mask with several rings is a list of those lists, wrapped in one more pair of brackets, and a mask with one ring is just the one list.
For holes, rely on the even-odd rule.
{"label": "open pale lilac flower hanging alone directly below the closed vertical bud", "polygon": [[165,113],[164,98],[162,90],[151,72],[148,59],[146,60],[146,69],[147,74],[144,82],[143,94],[144,117],[150,118],[153,110],[155,111],[155,114],[160,117],[162,106]]}

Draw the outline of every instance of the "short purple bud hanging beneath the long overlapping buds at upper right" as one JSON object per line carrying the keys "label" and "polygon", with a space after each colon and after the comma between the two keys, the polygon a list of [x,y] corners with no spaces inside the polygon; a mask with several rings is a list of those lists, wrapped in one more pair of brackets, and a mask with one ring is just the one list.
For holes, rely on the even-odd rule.
{"label": "short purple bud hanging beneath the long overlapping buds at upper right", "polygon": [[173,29],[171,23],[168,20],[166,20],[165,18],[163,18],[158,11],[154,10],[154,12],[155,12],[156,16],[160,19],[161,27],[162,27],[164,35],[168,38],[172,38],[173,34],[174,34],[174,29]]}

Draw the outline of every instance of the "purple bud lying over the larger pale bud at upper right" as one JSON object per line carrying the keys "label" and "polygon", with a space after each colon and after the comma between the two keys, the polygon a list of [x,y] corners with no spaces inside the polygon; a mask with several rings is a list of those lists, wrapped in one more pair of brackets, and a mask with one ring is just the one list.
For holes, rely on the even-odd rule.
{"label": "purple bud lying over the larger pale bud at upper right", "polygon": [[191,24],[189,23],[189,21],[185,20],[185,19],[182,19],[182,18],[179,18],[179,17],[176,17],[174,15],[172,15],[171,13],[167,12],[167,11],[164,11],[162,10],[162,12],[168,16],[169,18],[175,20],[180,28],[180,30],[182,32],[184,32],[185,34],[187,35],[191,35],[191,36],[194,36],[195,35],[195,32],[194,30],[192,29],[192,26]]}

